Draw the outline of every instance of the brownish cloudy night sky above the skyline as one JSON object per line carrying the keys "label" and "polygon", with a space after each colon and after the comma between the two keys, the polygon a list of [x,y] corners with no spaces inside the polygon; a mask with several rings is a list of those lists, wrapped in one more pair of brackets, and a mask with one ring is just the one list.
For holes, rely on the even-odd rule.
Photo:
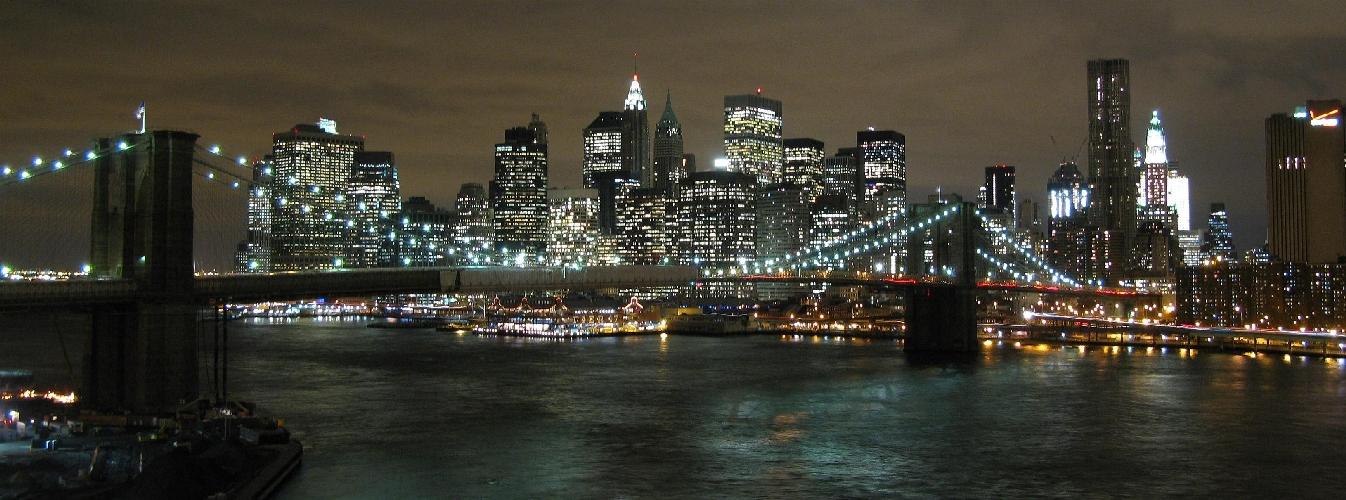
{"label": "brownish cloudy night sky above the skyline", "polygon": [[[830,150],[864,127],[903,132],[915,199],[972,194],[992,163],[1018,166],[1020,195],[1040,199],[1081,151],[1085,62],[1129,58],[1133,139],[1160,108],[1199,225],[1225,201],[1240,249],[1265,235],[1263,119],[1346,97],[1338,1],[5,3],[0,42],[0,162],[129,129],[141,100],[152,128],[250,156],[327,116],[397,155],[404,195],[435,202],[489,181],[491,146],[530,112],[551,128],[552,185],[577,185],[581,128],[621,106],[633,51],[651,117],[670,89],[703,166],[721,154],[723,96],[762,86],[785,102],[787,137]],[[0,260],[87,253],[71,201],[86,182],[43,189],[71,214],[34,218],[43,198],[0,187],[0,225],[22,228]],[[242,198],[207,199],[219,214],[198,221],[237,230]]]}

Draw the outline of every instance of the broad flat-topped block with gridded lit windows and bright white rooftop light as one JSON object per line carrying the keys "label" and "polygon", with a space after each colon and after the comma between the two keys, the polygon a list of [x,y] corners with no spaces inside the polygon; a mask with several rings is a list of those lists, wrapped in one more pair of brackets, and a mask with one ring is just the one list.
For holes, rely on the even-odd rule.
{"label": "broad flat-topped block with gridded lit windows and bright white rooftop light", "polygon": [[756,177],[699,171],[678,189],[678,261],[738,265],[756,257]]}

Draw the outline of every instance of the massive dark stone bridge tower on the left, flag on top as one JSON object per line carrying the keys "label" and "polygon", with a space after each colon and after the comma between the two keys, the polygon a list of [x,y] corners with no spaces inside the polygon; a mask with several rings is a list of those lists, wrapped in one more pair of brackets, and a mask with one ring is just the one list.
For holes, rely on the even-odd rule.
{"label": "massive dark stone bridge tower on the left, flag on top", "polygon": [[92,314],[81,396],[93,408],[163,412],[199,395],[191,177],[197,135],[97,140],[93,275],[131,279],[133,302]]}

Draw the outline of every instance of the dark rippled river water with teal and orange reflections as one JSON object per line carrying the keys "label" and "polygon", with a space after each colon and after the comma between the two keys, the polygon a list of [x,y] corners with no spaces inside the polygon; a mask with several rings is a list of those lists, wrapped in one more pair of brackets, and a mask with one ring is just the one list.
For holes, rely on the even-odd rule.
{"label": "dark rippled river water with teal and orange reflections", "polygon": [[236,395],[307,446],[283,497],[1339,497],[1346,478],[1335,360],[233,333]]}

